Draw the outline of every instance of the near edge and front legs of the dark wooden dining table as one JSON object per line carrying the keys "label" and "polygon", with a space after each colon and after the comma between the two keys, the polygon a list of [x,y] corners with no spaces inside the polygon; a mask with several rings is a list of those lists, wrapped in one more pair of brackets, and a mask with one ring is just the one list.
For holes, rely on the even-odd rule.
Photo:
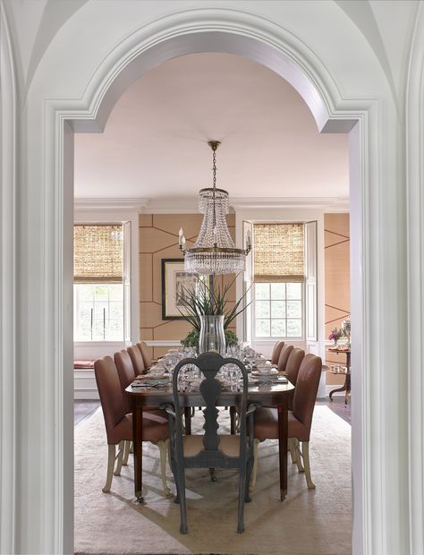
{"label": "near edge and front legs of the dark wooden dining table", "polygon": [[[271,381],[253,383],[249,386],[248,403],[259,403],[262,406],[272,406],[278,412],[278,452],[280,473],[280,499],[284,500],[287,494],[287,434],[288,434],[288,399],[293,392],[294,386],[287,383],[276,383]],[[144,407],[161,407],[166,404],[173,405],[174,397],[171,383],[165,387],[132,387],[126,388],[131,396],[132,404],[132,426],[133,426],[133,451],[134,451],[134,492],[139,502],[143,501],[142,484],[142,437]],[[216,406],[238,406],[242,398],[241,391],[223,389],[218,398]],[[185,391],[180,393],[180,406],[189,415],[191,407],[203,406],[204,400],[199,391]],[[186,433],[190,429],[186,429]]]}

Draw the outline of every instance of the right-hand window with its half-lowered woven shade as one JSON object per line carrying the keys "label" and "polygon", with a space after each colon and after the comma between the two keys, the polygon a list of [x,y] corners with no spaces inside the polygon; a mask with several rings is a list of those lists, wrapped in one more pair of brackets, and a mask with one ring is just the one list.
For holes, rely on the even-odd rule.
{"label": "right-hand window with its half-lowered woven shade", "polygon": [[304,336],[303,224],[253,226],[253,333],[257,338]]}

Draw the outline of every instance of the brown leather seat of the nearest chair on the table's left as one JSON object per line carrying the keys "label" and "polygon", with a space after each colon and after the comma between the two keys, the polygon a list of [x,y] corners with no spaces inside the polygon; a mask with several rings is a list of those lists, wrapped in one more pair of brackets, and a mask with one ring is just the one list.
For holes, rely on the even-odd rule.
{"label": "brown leather seat of the nearest chair on the table's left", "polygon": [[[168,437],[168,426],[165,411],[153,410],[143,411],[143,441],[157,443]],[[122,440],[132,440],[132,414],[125,414],[123,419],[114,426],[107,434],[107,443],[116,445]]]}

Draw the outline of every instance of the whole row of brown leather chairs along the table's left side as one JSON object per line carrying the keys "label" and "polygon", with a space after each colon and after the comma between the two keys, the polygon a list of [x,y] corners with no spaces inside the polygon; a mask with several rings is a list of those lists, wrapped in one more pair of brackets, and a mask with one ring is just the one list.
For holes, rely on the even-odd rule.
{"label": "whole row of brown leather chairs along the table's left side", "polygon": [[[114,358],[105,356],[94,363],[108,444],[106,484],[102,490],[105,493],[110,491],[113,476],[120,475],[122,466],[127,465],[131,450],[131,399],[125,389],[151,365],[151,362],[146,344],[140,342],[137,345],[129,346],[126,350],[114,353]],[[165,411],[150,407],[143,409],[142,440],[150,441],[159,448],[165,493],[169,493],[165,473],[166,451],[169,442],[167,423]],[[117,452],[116,446],[118,446]]]}

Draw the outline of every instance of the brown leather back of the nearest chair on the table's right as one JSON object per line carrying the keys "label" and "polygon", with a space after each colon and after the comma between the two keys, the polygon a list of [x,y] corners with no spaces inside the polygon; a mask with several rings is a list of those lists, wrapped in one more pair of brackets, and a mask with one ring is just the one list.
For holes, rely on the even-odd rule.
{"label": "brown leather back of the nearest chair on the table's right", "polygon": [[293,416],[303,424],[308,434],[310,434],[321,369],[320,357],[315,354],[307,354],[301,363],[294,389]]}

